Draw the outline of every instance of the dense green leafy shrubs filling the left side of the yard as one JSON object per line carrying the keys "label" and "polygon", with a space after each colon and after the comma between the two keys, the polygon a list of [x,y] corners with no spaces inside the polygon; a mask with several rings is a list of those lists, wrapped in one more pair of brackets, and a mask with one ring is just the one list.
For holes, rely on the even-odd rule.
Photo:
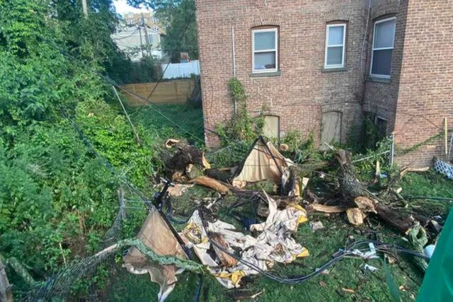
{"label": "dense green leafy shrubs filling the left side of the yard", "polygon": [[[117,213],[118,175],[146,189],[160,166],[153,136],[138,127],[144,144],[136,144],[107,103],[116,101],[111,86],[92,71],[103,72],[114,53],[98,47],[108,40],[93,33],[111,25],[101,24],[101,4],[110,2],[91,1],[100,6],[86,21],[91,27],[76,29],[83,30],[77,40],[69,30],[79,19],[65,15],[81,11],[75,2],[0,1],[0,254],[16,257],[38,280],[63,257],[101,247]],[[140,223],[131,221],[130,230]]]}

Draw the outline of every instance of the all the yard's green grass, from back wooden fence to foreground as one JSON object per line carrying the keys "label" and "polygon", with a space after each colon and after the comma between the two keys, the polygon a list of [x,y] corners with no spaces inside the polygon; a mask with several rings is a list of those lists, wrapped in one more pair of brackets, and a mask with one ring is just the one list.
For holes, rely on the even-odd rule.
{"label": "all the yard's green grass, from back wooden fence to foreground", "polygon": [[[165,115],[178,122],[188,132],[203,139],[202,113],[200,108],[190,105],[154,105]],[[131,110],[133,120],[149,131],[159,133],[167,137],[183,136],[190,139],[187,132],[174,129],[173,125],[150,108],[133,108]],[[450,180],[435,172],[415,174],[409,173],[401,181],[403,196],[430,196],[452,197],[453,186]],[[190,198],[205,197],[205,190],[194,190],[187,193]],[[189,198],[189,199],[190,199]],[[186,199],[188,200],[188,199]],[[194,204],[182,204],[183,200],[173,201],[176,211],[188,215],[195,207]],[[449,202],[423,202],[413,200],[409,202],[411,207],[426,208],[430,214],[442,214],[445,216],[451,207]],[[222,212],[220,213],[222,216]],[[224,219],[228,222],[229,219]],[[331,260],[331,256],[338,249],[355,240],[363,238],[382,240],[384,243],[395,243],[407,247],[407,243],[401,239],[401,234],[389,229],[382,221],[369,216],[368,223],[363,226],[351,226],[345,214],[331,216],[311,215],[309,221],[319,220],[324,229],[312,231],[309,223],[299,226],[294,238],[306,247],[310,256],[302,260],[296,260],[289,265],[275,265],[271,272],[282,277],[292,277],[298,274],[309,274],[318,267]],[[237,225],[237,224],[236,224]],[[280,284],[266,277],[252,279],[243,288],[253,292],[264,291],[258,296],[257,301],[394,301],[386,281],[382,254],[380,259],[365,260],[357,258],[344,258],[328,269],[328,274],[321,274],[309,281],[297,285]],[[377,267],[376,272],[370,272],[364,268],[365,263]],[[393,277],[396,289],[399,289],[401,301],[413,301],[423,280],[423,273],[413,265],[411,256],[397,255],[396,261],[387,264]],[[197,287],[197,277],[194,274],[184,272],[178,277],[174,291],[167,301],[191,301]],[[351,289],[352,292],[344,289]],[[155,301],[159,286],[149,281],[148,275],[133,275],[127,272],[117,274],[110,291],[110,301]],[[206,275],[202,287],[200,301],[232,301],[222,287],[212,276]]]}

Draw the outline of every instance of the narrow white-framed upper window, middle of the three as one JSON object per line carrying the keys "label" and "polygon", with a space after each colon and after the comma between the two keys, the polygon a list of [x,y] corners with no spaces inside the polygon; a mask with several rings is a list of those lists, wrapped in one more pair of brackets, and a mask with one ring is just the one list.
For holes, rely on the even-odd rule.
{"label": "narrow white-framed upper window, middle of the three", "polygon": [[345,66],[345,39],[345,23],[327,25],[324,68],[342,68]]}

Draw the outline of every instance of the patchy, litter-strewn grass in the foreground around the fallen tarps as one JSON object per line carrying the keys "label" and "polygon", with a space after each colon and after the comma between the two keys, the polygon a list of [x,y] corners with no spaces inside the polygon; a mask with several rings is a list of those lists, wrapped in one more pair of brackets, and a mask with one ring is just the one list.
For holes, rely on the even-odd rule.
{"label": "patchy, litter-strewn grass in the foreground around the fallen tarps", "polygon": [[[211,194],[210,194],[211,193]],[[173,200],[173,207],[178,211],[189,213],[195,209],[194,200],[212,195],[203,187],[193,187],[182,197]],[[212,195],[212,197],[214,197]],[[236,219],[225,216],[229,212],[231,204],[234,204],[234,196],[222,199],[222,207],[217,211],[222,220],[233,223],[238,231],[244,231]],[[188,203],[189,205],[184,205]],[[247,206],[235,209],[239,213],[245,213]],[[345,214],[324,216],[323,214],[309,215],[309,221],[319,220],[324,229],[312,231],[309,223],[303,223],[294,234],[297,242],[306,247],[310,256],[302,260],[296,260],[288,265],[277,264],[270,272],[281,277],[294,277],[301,274],[309,274],[331,260],[334,252],[355,240],[370,238],[382,240],[385,243],[395,243],[405,246],[406,242],[394,230],[382,225],[382,221],[369,216],[368,225],[351,226]],[[177,226],[180,228],[180,226]],[[382,257],[382,255],[380,255]],[[365,263],[378,267],[377,272],[364,269]],[[397,261],[387,265],[396,287],[401,289],[399,294],[402,301],[413,301],[423,280],[421,273],[413,265],[411,257],[398,255]],[[382,259],[365,260],[357,258],[343,258],[336,265],[328,268],[328,274],[321,274],[302,284],[281,284],[266,277],[253,277],[250,282],[244,284],[242,289],[250,289],[253,293],[263,291],[257,301],[391,301],[389,285],[386,281]],[[197,276],[185,272],[180,274],[174,291],[167,301],[189,301],[193,299],[197,288]],[[159,291],[159,286],[149,281],[148,275],[119,274],[118,279],[110,293],[110,301],[154,301]],[[352,289],[349,293],[343,289]],[[228,291],[222,287],[210,274],[205,276],[200,301],[233,301]]]}

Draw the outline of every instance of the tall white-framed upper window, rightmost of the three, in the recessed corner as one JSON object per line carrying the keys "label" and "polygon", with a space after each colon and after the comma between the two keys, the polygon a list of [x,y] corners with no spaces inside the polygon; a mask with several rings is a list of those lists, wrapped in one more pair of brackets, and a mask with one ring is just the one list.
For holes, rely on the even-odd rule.
{"label": "tall white-framed upper window, rightmost of the three, in the recessed corner", "polygon": [[374,23],[370,71],[372,76],[390,78],[391,55],[394,52],[395,28],[395,17],[376,21]]}

